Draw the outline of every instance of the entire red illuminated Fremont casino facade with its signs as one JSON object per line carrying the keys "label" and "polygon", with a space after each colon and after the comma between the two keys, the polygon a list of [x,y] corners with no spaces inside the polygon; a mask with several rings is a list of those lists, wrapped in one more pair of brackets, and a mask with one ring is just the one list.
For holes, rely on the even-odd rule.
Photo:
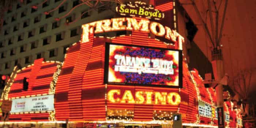
{"label": "entire red illuminated Fremont casino facade with its signs", "polygon": [[[123,13],[119,18],[82,25],[81,40],[67,48],[63,62],[37,59],[22,69],[15,67],[1,97],[12,100],[9,121],[172,127],[172,116],[179,113],[184,127],[217,128],[215,90],[204,87],[197,69],[189,71],[176,21],[165,25],[161,20],[170,12],[149,18],[166,11],[150,6],[144,8],[145,15],[151,10],[146,16],[138,16],[138,9],[138,15],[130,11],[131,17],[125,6],[129,4],[117,7]],[[95,36],[120,30],[130,33]],[[27,91],[19,83],[25,76],[30,80]],[[241,121],[239,114],[230,113]]]}

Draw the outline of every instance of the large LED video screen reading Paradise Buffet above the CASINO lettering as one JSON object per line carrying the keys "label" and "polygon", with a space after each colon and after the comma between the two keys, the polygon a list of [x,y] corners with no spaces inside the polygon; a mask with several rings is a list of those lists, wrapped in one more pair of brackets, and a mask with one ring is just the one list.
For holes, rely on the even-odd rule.
{"label": "large LED video screen reading Paradise Buffet above the CASINO lettering", "polygon": [[181,50],[106,43],[106,84],[182,87]]}

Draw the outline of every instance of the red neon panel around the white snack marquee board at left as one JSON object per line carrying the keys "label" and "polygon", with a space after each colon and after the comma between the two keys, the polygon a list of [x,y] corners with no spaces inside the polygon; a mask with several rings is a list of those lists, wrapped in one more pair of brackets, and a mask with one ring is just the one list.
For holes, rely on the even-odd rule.
{"label": "red neon panel around the white snack marquee board at left", "polygon": [[[26,95],[48,94],[57,63],[42,63],[44,59],[34,61],[34,65],[20,71],[8,94],[8,98]],[[23,78],[29,78],[29,89],[23,91]],[[11,114],[10,121],[49,121],[49,113]]]}

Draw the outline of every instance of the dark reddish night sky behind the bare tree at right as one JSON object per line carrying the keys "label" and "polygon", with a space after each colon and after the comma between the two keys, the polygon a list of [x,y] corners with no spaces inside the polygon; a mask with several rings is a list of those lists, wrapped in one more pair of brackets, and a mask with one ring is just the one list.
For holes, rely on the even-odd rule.
{"label": "dark reddish night sky behind the bare tree at right", "polygon": [[[179,0],[181,3],[191,3],[191,0]],[[211,0],[212,1],[212,0]],[[220,15],[223,16],[223,8],[225,0],[214,0],[217,7],[220,6]],[[197,7],[205,21],[206,10],[208,9],[207,0],[195,0]],[[213,4],[212,8],[214,8]],[[193,22],[199,29],[194,41],[197,43],[203,53],[208,56],[211,61],[211,43],[202,27],[198,15],[193,8],[193,5],[183,5],[185,10],[191,16]],[[249,93],[256,90],[256,0],[229,0],[227,4],[227,12],[223,27],[223,36],[221,39],[224,72],[229,74],[229,84],[232,84],[232,79],[241,74],[241,71],[247,69],[252,70],[251,85]],[[212,13],[214,15],[214,13]],[[207,14],[207,26],[210,28],[209,13]],[[215,19],[215,15],[213,16]],[[221,21],[221,18],[219,18]],[[215,22],[215,20],[214,20]],[[219,25],[220,26],[220,25]],[[192,60],[190,60],[192,61]],[[247,77],[249,78],[249,77]],[[246,79],[248,83],[249,79]],[[239,89],[238,89],[239,91]]]}

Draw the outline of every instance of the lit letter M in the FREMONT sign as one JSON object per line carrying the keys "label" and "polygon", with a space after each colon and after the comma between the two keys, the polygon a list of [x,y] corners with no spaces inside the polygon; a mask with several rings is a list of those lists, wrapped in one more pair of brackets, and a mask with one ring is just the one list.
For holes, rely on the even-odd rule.
{"label": "lit letter M in the FREMONT sign", "polygon": [[139,23],[134,18],[126,18],[126,20],[127,20],[126,30],[135,30],[135,31],[140,30],[140,31],[149,33],[149,29],[148,29],[149,20],[141,19]]}

